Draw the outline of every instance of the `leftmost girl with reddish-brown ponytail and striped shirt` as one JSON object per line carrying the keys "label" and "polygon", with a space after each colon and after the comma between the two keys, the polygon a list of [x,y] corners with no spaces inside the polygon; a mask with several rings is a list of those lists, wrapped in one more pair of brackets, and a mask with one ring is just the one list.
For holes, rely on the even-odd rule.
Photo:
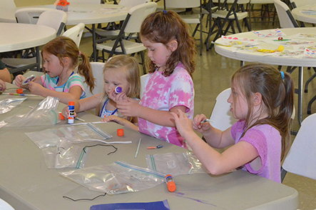
{"label": "leftmost girl with reddish-brown ponytail and striped shirt", "polygon": [[[91,91],[94,88],[94,78],[88,57],[81,54],[76,43],[67,37],[59,36],[49,41],[41,50],[43,69],[46,74],[37,76],[34,81],[23,86],[32,94],[40,96],[54,96],[64,104],[86,97],[81,75],[86,79],[86,84]],[[78,65],[78,58],[82,61]],[[75,72],[78,65],[78,74]],[[16,76],[15,84],[21,86],[23,75]]]}

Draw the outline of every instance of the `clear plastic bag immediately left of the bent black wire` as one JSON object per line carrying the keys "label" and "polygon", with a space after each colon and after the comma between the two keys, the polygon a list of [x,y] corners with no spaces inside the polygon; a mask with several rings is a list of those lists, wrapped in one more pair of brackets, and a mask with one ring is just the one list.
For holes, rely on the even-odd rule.
{"label": "clear plastic bag immediately left of the bent black wire", "polygon": [[82,149],[68,141],[61,141],[56,147],[42,149],[46,165],[49,169],[78,168],[82,169],[90,148]]}

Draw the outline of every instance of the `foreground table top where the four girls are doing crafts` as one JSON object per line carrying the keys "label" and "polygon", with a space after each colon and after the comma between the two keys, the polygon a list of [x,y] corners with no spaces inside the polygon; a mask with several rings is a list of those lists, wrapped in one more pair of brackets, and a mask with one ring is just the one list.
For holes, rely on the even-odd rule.
{"label": "foreground table top where the four girls are doing crafts", "polygon": [[[7,87],[13,85],[8,84]],[[15,89],[8,89],[15,92]],[[28,92],[26,91],[26,94]],[[0,95],[2,99],[14,96]],[[20,96],[16,96],[20,97]],[[41,96],[31,96],[19,108],[0,115],[0,119],[16,113],[26,114],[29,106],[36,106]],[[61,110],[65,104],[59,104]],[[81,112],[78,117],[86,121],[100,121],[98,116]],[[78,121],[75,121],[78,123]],[[236,171],[221,176],[209,174],[190,174],[174,176],[177,186],[175,192],[168,191],[165,184],[145,191],[127,194],[106,195],[93,201],[70,201],[63,196],[73,199],[90,198],[99,195],[66,179],[58,172],[71,169],[47,169],[41,149],[34,144],[24,133],[41,131],[43,129],[59,128],[66,121],[54,126],[37,126],[29,128],[0,130],[0,195],[15,209],[89,209],[96,204],[148,202],[168,199],[170,209],[297,209],[298,194],[295,189],[260,176],[249,174],[246,171]],[[165,154],[183,152],[183,148],[168,144],[165,141],[154,139],[137,131],[124,128],[124,136],[118,137],[116,129],[122,128],[115,123],[96,124],[98,127],[113,136],[108,141],[133,141],[132,144],[115,144],[116,153],[107,155],[108,150],[95,147],[89,151],[85,167],[111,164],[114,161],[126,161],[136,166],[147,167],[146,154]],[[142,139],[138,157],[135,152],[138,140]],[[90,144],[95,144],[91,142]],[[148,150],[148,146],[163,144],[161,149]],[[92,196],[93,195],[93,196]],[[58,206],[58,207],[57,207]],[[193,208],[194,206],[194,208]]]}

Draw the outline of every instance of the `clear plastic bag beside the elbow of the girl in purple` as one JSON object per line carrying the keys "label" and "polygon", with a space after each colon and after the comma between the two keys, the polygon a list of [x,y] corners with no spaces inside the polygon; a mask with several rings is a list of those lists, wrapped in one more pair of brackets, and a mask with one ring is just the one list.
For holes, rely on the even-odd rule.
{"label": "clear plastic bag beside the elbow of the girl in purple", "polygon": [[173,176],[207,173],[207,170],[203,168],[198,158],[191,151],[183,153],[148,154],[146,155],[146,161],[149,169]]}

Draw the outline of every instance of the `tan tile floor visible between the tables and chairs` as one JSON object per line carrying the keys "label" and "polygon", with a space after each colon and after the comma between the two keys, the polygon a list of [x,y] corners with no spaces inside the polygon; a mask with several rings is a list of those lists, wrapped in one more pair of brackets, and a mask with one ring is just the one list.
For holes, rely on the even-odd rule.
{"label": "tan tile floor visible between the tables and chairs", "polygon": [[[253,23],[253,30],[259,29],[272,29],[277,28],[278,24],[272,26],[272,24]],[[206,35],[205,35],[206,36]],[[198,37],[198,34],[197,34]],[[205,37],[204,37],[205,39]],[[91,54],[91,37],[83,38],[81,41],[80,49],[83,53]],[[199,45],[199,41],[197,41]],[[197,48],[197,51],[199,49]],[[230,75],[238,69],[240,61],[233,59],[227,59],[223,56],[216,54],[214,49],[206,51],[203,49],[203,55],[196,56],[197,68],[193,74],[193,80],[195,85],[195,114],[205,114],[210,116],[213,109],[216,96],[230,87]],[[285,67],[283,67],[285,71]],[[305,69],[304,81],[306,81],[314,72],[312,70]],[[297,71],[292,73],[292,78],[297,86]],[[308,100],[312,98],[313,93],[316,93],[316,79],[310,83],[309,93],[303,96],[303,119],[307,116],[306,108]],[[297,102],[295,102],[297,104]],[[312,113],[316,112],[316,102],[312,108]],[[299,128],[297,119],[293,122],[293,129]],[[294,136],[293,136],[294,138]],[[315,160],[316,161],[316,160]],[[285,176],[283,184],[292,186],[299,192],[300,206],[299,209],[316,209],[316,181],[307,179],[302,176],[297,176],[288,173]]]}

